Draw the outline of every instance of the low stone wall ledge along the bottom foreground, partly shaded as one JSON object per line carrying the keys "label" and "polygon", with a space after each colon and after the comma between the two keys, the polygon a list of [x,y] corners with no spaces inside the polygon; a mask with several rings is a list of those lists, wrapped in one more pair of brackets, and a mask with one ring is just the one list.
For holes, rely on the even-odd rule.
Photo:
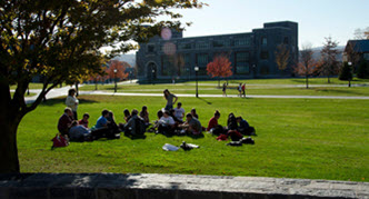
{"label": "low stone wall ledge along the bottom foreground, partly shaded", "polygon": [[0,175],[0,198],[369,198],[368,182],[150,173]]}

